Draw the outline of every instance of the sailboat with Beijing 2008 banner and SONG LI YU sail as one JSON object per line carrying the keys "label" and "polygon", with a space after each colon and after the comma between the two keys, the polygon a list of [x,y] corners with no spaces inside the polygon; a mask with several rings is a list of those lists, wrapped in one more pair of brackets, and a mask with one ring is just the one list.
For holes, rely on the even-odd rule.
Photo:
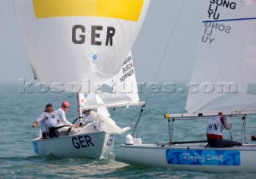
{"label": "sailboat with Beijing 2008 banner and SONG LI YU sail", "polygon": [[[207,141],[142,144],[126,136],[117,161],[132,165],[207,172],[255,172],[256,145],[246,142],[245,123],[256,114],[256,2],[206,2],[205,17],[186,101],[186,113],[166,113],[171,123],[218,115],[241,117],[242,146],[214,148]],[[187,121],[193,122],[193,121]],[[207,127],[207,121],[205,123]]]}

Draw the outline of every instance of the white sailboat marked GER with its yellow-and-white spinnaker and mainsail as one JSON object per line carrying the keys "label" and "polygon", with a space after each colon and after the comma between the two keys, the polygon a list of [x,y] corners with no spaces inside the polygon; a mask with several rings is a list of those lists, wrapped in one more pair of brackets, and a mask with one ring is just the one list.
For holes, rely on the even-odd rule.
{"label": "white sailboat marked GER with its yellow-and-white spinnaker and mainsail", "polygon": [[[65,126],[54,138],[34,138],[35,153],[106,157],[114,147],[114,134],[130,129],[118,127],[107,107],[142,104],[132,85],[136,78],[130,49],[149,4],[150,0],[14,0],[34,78],[51,89],[77,93],[79,123],[82,110],[96,109],[88,125]],[[130,87],[123,87],[126,83]]]}

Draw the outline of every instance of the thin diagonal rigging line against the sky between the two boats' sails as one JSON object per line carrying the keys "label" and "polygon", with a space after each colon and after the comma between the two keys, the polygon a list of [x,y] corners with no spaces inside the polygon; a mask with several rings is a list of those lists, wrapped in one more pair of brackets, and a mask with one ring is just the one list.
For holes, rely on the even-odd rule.
{"label": "thin diagonal rigging line against the sky between the two boats' sails", "polygon": [[[165,49],[165,51],[164,51],[164,53],[163,53],[163,55],[162,55],[162,60],[161,60],[161,62],[160,62],[160,64],[159,64],[159,66],[158,66],[157,73],[155,74],[154,82],[156,81],[156,79],[157,79],[157,77],[158,77],[160,68],[161,68],[161,66],[162,66],[162,62],[164,61],[164,59],[165,59],[165,57],[166,57],[167,50],[169,49],[169,46],[170,46],[170,40],[172,39],[172,37],[173,37],[173,35],[174,35],[174,30],[175,30],[175,28],[176,28],[176,26],[177,26],[178,19],[179,19],[179,17],[180,17],[181,12],[182,12],[182,9],[183,9],[183,6],[184,6],[185,1],[186,1],[186,0],[183,0],[182,6],[181,6],[181,8],[180,8],[180,10],[179,10],[179,12],[178,12],[178,17],[176,18],[176,21],[175,21],[175,23],[174,23],[174,28],[173,28],[173,30],[171,31],[170,38],[169,38],[169,40],[168,40],[168,44],[167,44],[166,49]],[[151,94],[151,93],[150,93],[150,94]],[[148,97],[146,98],[146,102],[147,102],[148,99],[150,98],[150,94],[149,94]]]}

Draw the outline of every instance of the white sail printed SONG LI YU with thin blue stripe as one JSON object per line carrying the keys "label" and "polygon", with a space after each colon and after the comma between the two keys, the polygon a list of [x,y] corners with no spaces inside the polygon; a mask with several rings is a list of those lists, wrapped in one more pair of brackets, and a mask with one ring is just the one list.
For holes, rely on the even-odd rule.
{"label": "white sail printed SONG LI YU with thin blue stripe", "polygon": [[[217,5],[217,2],[223,3]],[[255,110],[256,3],[208,3],[205,21],[209,22],[202,22],[186,110],[188,113]]]}

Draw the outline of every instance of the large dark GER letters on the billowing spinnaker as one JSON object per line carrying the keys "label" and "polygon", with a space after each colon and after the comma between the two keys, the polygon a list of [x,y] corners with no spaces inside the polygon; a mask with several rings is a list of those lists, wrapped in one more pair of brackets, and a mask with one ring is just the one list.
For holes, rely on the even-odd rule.
{"label": "large dark GER letters on the billowing spinnaker", "polygon": [[[102,46],[102,42],[98,41],[101,38],[101,31],[103,26],[91,26],[90,44],[94,46]],[[112,26],[106,27],[106,42],[105,46],[113,46],[113,37],[115,29]],[[98,38],[98,39],[97,39]],[[86,27],[82,25],[75,25],[72,28],[72,42],[74,44],[84,44],[86,42]]]}

